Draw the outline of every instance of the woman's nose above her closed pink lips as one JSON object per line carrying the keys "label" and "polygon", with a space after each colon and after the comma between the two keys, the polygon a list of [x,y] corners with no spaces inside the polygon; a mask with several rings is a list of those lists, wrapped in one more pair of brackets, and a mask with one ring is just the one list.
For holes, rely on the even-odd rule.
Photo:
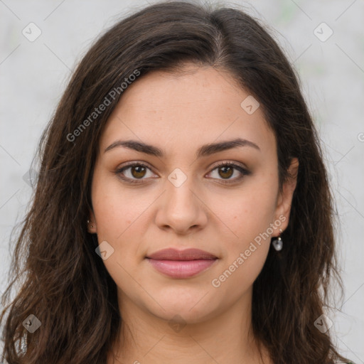
{"label": "woman's nose above her closed pink lips", "polygon": [[[208,222],[208,207],[188,177],[181,186],[166,181],[166,191],[159,199],[156,225],[178,235],[198,231]],[[195,190],[195,191],[194,191]]]}

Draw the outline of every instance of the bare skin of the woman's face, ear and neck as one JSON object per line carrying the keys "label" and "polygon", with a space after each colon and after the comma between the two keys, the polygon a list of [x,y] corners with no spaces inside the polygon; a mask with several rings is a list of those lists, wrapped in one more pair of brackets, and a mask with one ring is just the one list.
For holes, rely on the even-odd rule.
{"label": "bare skin of the woman's face, ear and neck", "polygon": [[[260,358],[252,336],[252,284],[267,258],[270,237],[287,228],[296,178],[279,192],[276,140],[261,107],[247,114],[240,106],[250,95],[247,90],[215,68],[187,64],[185,70],[154,71],[129,85],[100,139],[89,231],[97,233],[99,244],[107,241],[114,249],[103,261],[117,284],[123,318],[113,353],[117,363],[186,364],[191,358],[196,364],[272,363],[264,347]],[[237,137],[259,150],[240,146],[196,159],[202,144]],[[156,146],[165,155],[123,146],[105,152],[114,141],[127,139]],[[128,161],[150,169],[129,168],[118,176],[115,171]],[[233,169],[231,174],[216,166],[219,161],[251,173]],[[289,171],[294,176],[298,165],[293,159]],[[168,180],[175,168],[187,178],[178,187]],[[120,175],[141,183],[127,183]],[[274,225],[269,238],[255,244],[250,257],[213,287],[213,279],[279,217],[281,224]],[[145,259],[167,247],[196,247],[218,260],[194,277],[174,279]],[[179,331],[168,324],[178,321],[176,315]]]}

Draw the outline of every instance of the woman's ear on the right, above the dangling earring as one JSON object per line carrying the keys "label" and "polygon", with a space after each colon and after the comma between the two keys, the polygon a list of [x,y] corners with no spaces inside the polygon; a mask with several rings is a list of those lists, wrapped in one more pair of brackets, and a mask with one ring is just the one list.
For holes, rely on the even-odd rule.
{"label": "woman's ear on the right, above the dangling earring", "polygon": [[281,220],[282,224],[279,228],[275,229],[274,234],[279,235],[279,229],[286,230],[289,223],[289,213],[291,212],[291,204],[293,193],[297,184],[297,175],[299,171],[299,160],[297,158],[291,159],[291,165],[288,168],[289,177],[284,181],[282,191],[279,191],[277,198],[277,207],[275,212],[276,220]]}

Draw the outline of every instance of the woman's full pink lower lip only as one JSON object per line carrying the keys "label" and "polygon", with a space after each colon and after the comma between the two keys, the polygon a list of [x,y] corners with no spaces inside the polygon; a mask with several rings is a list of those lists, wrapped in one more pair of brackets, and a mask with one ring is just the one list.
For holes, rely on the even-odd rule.
{"label": "woman's full pink lower lip only", "polygon": [[159,272],[172,278],[188,278],[211,267],[218,259],[156,260],[148,258]]}

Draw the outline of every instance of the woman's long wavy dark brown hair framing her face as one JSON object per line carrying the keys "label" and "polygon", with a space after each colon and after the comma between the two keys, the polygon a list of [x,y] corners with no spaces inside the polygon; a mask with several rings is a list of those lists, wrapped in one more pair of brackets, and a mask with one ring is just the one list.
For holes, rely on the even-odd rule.
{"label": "woman's long wavy dark brown hair framing her face", "polygon": [[[148,6],[100,36],[43,132],[38,181],[16,237],[11,281],[2,298],[1,321],[9,311],[3,360],[106,363],[122,318],[116,284],[87,232],[98,142],[122,97],[123,82],[137,82],[153,70],[178,70],[186,62],[228,71],[259,100],[277,139],[280,186],[291,158],[299,159],[289,226],[282,234],[284,250],[269,250],[253,286],[257,340],[277,364],[346,360],[329,331],[314,324],[329,307],[331,278],[343,288],[328,176],[298,77],[259,21],[241,10],[185,1]],[[100,105],[105,105],[102,111]],[[16,283],[19,289],[11,300]],[[41,322],[33,333],[23,325],[29,315]]]}

